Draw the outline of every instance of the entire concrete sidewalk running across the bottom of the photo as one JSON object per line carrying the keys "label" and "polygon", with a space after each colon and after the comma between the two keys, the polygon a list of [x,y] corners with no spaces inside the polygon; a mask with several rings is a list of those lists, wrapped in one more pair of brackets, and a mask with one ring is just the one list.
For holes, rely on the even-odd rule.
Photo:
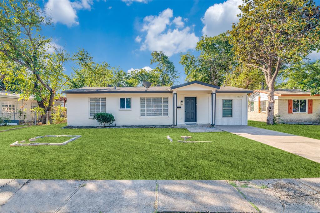
{"label": "entire concrete sidewalk running across the bottom of the photo", "polygon": [[320,178],[0,179],[0,212],[320,212]]}

